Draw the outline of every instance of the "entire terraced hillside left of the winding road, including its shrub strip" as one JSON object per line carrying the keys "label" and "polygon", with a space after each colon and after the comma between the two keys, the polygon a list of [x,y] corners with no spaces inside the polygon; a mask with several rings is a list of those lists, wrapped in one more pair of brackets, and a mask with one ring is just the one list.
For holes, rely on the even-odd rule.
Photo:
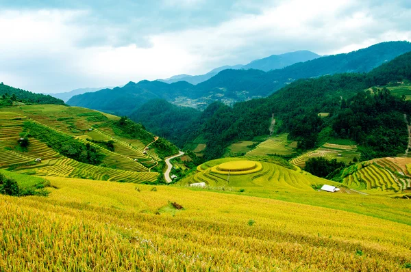
{"label": "entire terraced hillside left of the winding road, including its shrub strip", "polygon": [[175,153],[127,118],[62,105],[0,108],[0,167],[19,173],[153,182]]}

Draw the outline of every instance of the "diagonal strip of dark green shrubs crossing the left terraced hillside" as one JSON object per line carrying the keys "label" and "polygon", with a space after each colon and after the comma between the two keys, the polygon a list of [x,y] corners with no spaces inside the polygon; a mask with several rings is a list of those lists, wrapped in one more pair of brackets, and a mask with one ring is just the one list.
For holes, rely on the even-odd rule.
{"label": "diagonal strip of dark green shrubs crossing the left terraced hillside", "polygon": [[83,144],[70,135],[58,133],[34,122],[24,122],[23,126],[29,131],[29,135],[46,143],[47,146],[66,157],[92,165],[99,165],[103,161],[104,154],[101,154],[94,146],[88,143]]}

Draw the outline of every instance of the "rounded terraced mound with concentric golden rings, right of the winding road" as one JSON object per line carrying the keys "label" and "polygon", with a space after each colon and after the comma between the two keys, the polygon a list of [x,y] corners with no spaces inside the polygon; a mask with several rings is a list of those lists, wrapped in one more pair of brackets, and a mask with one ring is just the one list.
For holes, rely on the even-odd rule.
{"label": "rounded terraced mound with concentric golden rings, right of the winding road", "polygon": [[206,185],[210,187],[264,187],[306,191],[312,191],[312,185],[340,185],[337,182],[324,180],[301,170],[292,170],[273,163],[254,162],[258,164],[258,168],[247,168],[240,172],[227,170],[227,163],[236,165],[245,162],[245,160],[226,158],[203,163],[197,167],[197,173],[188,176],[179,184],[189,185],[190,183],[206,182]]}

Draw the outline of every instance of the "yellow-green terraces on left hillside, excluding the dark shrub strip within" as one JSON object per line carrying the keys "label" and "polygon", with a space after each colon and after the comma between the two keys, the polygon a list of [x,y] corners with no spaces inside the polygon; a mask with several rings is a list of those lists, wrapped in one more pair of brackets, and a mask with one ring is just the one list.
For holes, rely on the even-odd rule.
{"label": "yellow-green terraces on left hillside, excluding the dark shrub strip within", "polygon": [[[33,105],[0,108],[0,167],[12,167],[18,172],[37,176],[91,178],[97,180],[152,182],[158,173],[149,168],[161,159],[154,150],[144,154],[145,144],[138,139],[127,139],[114,133],[110,120],[118,117],[80,107],[61,105]],[[94,146],[104,154],[101,165],[88,165],[62,156],[45,143],[29,138],[27,150],[20,150],[17,140],[23,131],[23,122],[36,122],[61,135],[75,137]],[[108,124],[108,123],[107,123]],[[99,128],[95,128],[99,126]],[[87,141],[114,141],[114,152]],[[41,159],[41,163],[34,160]]]}

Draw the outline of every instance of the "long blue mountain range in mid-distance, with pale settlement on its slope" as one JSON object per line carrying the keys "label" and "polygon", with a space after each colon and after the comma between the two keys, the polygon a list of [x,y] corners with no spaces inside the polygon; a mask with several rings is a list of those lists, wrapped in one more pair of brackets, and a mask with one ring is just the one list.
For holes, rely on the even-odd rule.
{"label": "long blue mountain range in mid-distance, with pale settlement on its slope", "polygon": [[225,104],[269,96],[281,87],[301,78],[319,77],[342,72],[369,72],[403,53],[411,51],[410,42],[383,42],[347,54],[320,57],[293,64],[279,70],[223,70],[208,81],[197,85],[179,81],[166,84],[160,81],[128,83],[113,90],[73,96],[69,105],[88,107],[110,113],[129,115],[153,98],[172,103],[186,99],[192,107],[222,101]]}

